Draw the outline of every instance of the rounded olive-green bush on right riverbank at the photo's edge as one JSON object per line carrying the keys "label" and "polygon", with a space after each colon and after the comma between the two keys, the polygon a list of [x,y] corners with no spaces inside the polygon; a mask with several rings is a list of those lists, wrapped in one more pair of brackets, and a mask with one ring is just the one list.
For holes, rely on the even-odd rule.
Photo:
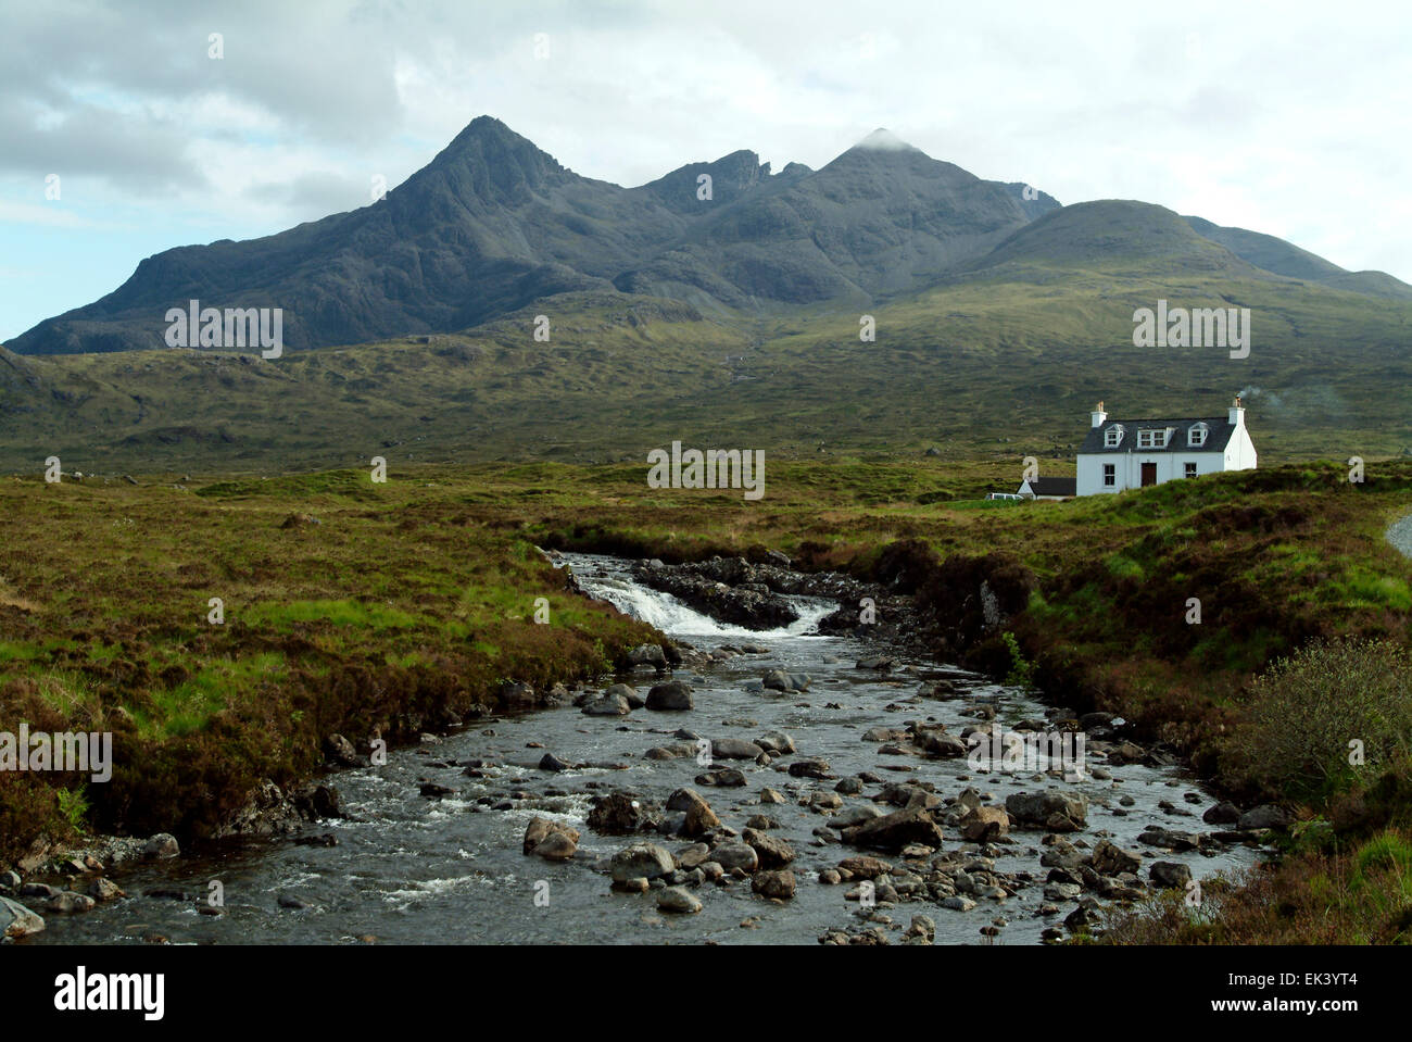
{"label": "rounded olive-green bush on right riverbank at the photo's edge", "polygon": [[[1412,750],[1412,659],[1392,641],[1312,644],[1278,659],[1245,705],[1244,769],[1288,796],[1326,796],[1406,764]],[[1350,762],[1354,740],[1363,764]]]}

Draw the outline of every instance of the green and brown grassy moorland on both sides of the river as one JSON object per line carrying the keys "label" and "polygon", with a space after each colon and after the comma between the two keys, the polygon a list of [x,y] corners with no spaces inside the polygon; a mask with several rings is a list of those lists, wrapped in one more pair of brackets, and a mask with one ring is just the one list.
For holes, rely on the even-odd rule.
{"label": "green and brown grassy moorland on both sides of the river", "polygon": [[[258,778],[305,777],[332,731],[415,736],[493,702],[503,679],[590,675],[648,637],[566,594],[534,544],[675,561],[779,549],[888,582],[935,611],[938,654],[1000,673],[1031,666],[1052,699],[1123,714],[1245,799],[1291,795],[1251,769],[1250,692],[1275,659],[1322,638],[1412,642],[1408,561],[1384,538],[1412,510],[1412,462],[1370,460],[1360,484],[1341,465],[1302,463],[1113,498],[984,503],[1018,483],[1014,470],[771,457],[758,503],[651,490],[640,465],[394,467],[387,484],[349,470],[186,490],[175,476],[141,487],[8,479],[0,720],[113,730],[117,768],[86,791],[0,777],[0,836],[16,847],[64,827],[65,813],[199,833]],[[1021,662],[979,624],[983,580]],[[223,625],[206,621],[216,596]],[[549,625],[531,621],[538,596]],[[1306,830],[1324,839],[1289,858],[1289,885],[1310,871],[1350,880],[1340,866],[1357,867],[1360,847],[1348,844],[1384,829],[1401,849],[1406,812],[1388,794],[1405,777],[1382,764],[1300,794],[1302,816],[1337,816],[1341,832]],[[61,802],[58,786],[72,795]],[[1363,864],[1367,877],[1374,863]],[[1356,906],[1351,884],[1330,892]]]}

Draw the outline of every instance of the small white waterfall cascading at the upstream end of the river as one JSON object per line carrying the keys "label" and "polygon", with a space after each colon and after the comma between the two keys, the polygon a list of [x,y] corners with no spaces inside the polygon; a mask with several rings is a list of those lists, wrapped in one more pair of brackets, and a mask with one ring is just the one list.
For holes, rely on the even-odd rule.
{"label": "small white waterfall cascading at the upstream end of the river", "polygon": [[[618,611],[640,618],[672,637],[737,637],[768,641],[784,637],[809,637],[819,620],[839,606],[818,597],[788,597],[799,618],[778,630],[747,630],[743,625],[719,623],[696,609],[683,604],[669,593],[661,593],[634,582],[623,562],[592,553],[565,553],[565,563],[573,569],[579,585],[594,597],[602,597]],[[818,640],[827,640],[818,637]]]}

